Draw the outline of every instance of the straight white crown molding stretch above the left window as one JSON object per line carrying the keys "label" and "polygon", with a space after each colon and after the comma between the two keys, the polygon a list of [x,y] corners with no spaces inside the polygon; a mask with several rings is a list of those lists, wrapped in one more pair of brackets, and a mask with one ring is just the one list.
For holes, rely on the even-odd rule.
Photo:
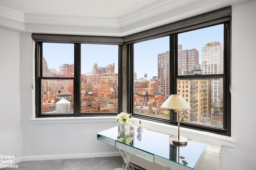
{"label": "straight white crown molding stretch above the left window", "polygon": [[99,18],[82,16],[25,14],[25,23],[76,25],[88,27],[120,27],[117,18]]}

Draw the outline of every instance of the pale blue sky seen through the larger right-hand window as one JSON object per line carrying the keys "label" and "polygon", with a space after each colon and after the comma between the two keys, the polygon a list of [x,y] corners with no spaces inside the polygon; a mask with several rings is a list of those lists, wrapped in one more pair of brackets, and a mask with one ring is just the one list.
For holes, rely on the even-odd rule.
{"label": "pale blue sky seen through the larger right-hand window", "polygon": [[[197,49],[199,63],[202,61],[202,47],[212,41],[224,42],[224,24],[214,25],[202,29],[196,29],[178,34],[178,45],[182,49]],[[143,41],[134,44],[134,72],[137,79],[144,78],[148,74],[148,80],[157,76],[158,53],[165,53],[169,49],[169,36]]]}

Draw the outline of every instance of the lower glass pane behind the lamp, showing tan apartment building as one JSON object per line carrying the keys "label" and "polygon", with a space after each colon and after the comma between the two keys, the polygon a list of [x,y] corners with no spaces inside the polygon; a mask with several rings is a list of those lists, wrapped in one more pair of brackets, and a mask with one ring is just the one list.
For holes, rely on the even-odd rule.
{"label": "lower glass pane behind the lamp, showing tan apartment building", "polygon": [[177,94],[191,107],[184,121],[223,128],[223,78],[177,79]]}

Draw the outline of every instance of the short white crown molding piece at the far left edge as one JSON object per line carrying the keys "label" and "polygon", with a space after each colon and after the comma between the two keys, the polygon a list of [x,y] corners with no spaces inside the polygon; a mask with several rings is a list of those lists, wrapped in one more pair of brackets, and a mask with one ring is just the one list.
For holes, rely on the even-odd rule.
{"label": "short white crown molding piece at the far left edge", "polygon": [[0,6],[0,16],[10,18],[12,20],[24,22],[24,13],[4,6]]}

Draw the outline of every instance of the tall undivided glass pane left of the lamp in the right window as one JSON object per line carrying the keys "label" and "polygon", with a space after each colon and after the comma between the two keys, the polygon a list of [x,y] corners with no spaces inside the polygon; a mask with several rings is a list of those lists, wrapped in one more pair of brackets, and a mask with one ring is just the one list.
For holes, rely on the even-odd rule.
{"label": "tall undivided glass pane left of the lamp in the right window", "polygon": [[134,113],[170,119],[169,37],[134,44]]}

